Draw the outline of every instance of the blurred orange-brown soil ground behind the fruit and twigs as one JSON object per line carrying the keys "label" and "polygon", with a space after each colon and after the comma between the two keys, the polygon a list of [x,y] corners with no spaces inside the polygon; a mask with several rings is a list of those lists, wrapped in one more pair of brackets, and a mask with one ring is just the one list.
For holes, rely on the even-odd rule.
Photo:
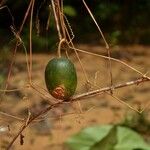
{"label": "blurred orange-brown soil ground behind the fruit and twigs", "polygon": [[[80,45],[81,49],[99,54],[107,54],[105,48],[99,46]],[[74,53],[70,54],[78,72],[78,88],[76,94],[93,90],[97,87],[110,85],[109,63],[100,57],[79,53],[81,61],[87,72],[90,82],[86,84],[83,71]],[[39,91],[45,89],[44,68],[53,54],[33,55],[33,83]],[[128,46],[114,47],[112,57],[118,58],[139,71],[146,73],[150,68],[150,47]],[[113,84],[124,83],[140,77],[140,75],[128,67],[112,62]],[[24,54],[17,54],[12,76],[9,80],[9,88],[22,88],[20,91],[0,95],[0,111],[25,118],[28,110],[34,115],[49,104],[41,94],[27,88],[28,76]],[[115,90],[113,94],[130,104],[134,108],[145,107],[149,103],[149,83],[125,87]],[[49,95],[48,95],[49,96]],[[51,97],[51,101],[54,99]],[[97,124],[120,123],[126,112],[133,112],[125,105],[119,103],[107,93],[86,98],[80,103],[64,104],[48,114],[43,121],[33,123],[24,132],[24,144],[19,144],[19,139],[13,145],[14,150],[62,150],[64,141],[77,133],[81,128]],[[149,108],[145,110],[149,112]],[[14,135],[18,132],[22,122],[0,114],[0,127],[10,126],[10,131],[0,133],[0,149],[5,149]],[[2,136],[1,136],[2,135]]]}

